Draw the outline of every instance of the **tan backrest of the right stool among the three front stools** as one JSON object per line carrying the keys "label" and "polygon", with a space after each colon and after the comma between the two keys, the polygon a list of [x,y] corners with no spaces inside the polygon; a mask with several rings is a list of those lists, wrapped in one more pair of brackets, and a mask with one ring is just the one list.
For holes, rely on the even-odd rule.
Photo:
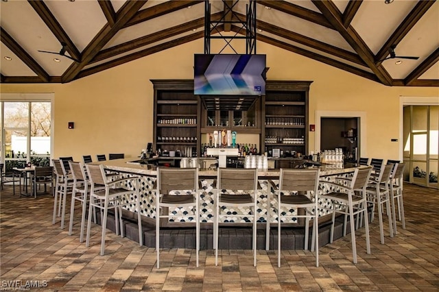
{"label": "tan backrest of the right stool among the three front stools", "polygon": [[279,191],[313,191],[318,194],[318,169],[281,169]]}

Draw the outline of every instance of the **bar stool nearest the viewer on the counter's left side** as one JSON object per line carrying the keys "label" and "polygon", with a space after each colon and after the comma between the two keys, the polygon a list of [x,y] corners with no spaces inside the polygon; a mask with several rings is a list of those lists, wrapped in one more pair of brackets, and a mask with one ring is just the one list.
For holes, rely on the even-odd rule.
{"label": "bar stool nearest the viewer on the counter's left side", "polygon": [[[139,177],[131,176],[129,178],[121,178],[115,181],[108,181],[105,175],[104,165],[86,165],[86,170],[88,173],[88,178],[90,178],[91,189],[90,189],[90,203],[88,204],[88,223],[87,223],[87,236],[85,246],[90,245],[90,233],[91,233],[91,217],[94,208],[99,208],[103,211],[101,217],[102,222],[102,239],[101,239],[101,256],[104,255],[105,251],[105,234],[106,234],[106,223],[107,215],[109,209],[115,209],[115,217],[119,221],[121,237],[123,237],[123,223],[122,223],[122,207],[132,205],[132,201],[126,195],[132,195],[136,200],[136,211],[137,211],[137,226],[139,228],[139,245],[143,245],[142,236],[142,219],[140,210],[140,198],[139,198]],[[127,190],[126,188],[112,188],[113,184],[120,182],[134,181],[134,191]],[[102,188],[97,188],[97,185],[104,186]],[[119,214],[119,215],[118,215]],[[116,228],[118,230],[117,224]]]}

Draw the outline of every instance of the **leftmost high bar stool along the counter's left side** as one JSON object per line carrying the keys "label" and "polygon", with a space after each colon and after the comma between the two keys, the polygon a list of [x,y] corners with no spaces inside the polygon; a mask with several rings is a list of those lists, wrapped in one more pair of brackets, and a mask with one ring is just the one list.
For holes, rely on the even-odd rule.
{"label": "leftmost high bar stool along the counter's left side", "polygon": [[52,224],[55,224],[56,222],[56,210],[58,207],[58,217],[61,216],[61,229],[64,229],[67,192],[73,188],[73,179],[71,178],[71,175],[64,173],[65,169],[62,167],[62,162],[60,160],[54,159],[52,162],[55,169],[54,215]]}

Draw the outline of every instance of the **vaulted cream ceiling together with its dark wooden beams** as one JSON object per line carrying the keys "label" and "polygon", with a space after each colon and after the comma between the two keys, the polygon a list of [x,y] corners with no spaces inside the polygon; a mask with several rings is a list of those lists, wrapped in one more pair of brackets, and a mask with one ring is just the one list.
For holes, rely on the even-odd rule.
{"label": "vaulted cream ceiling together with its dark wooden beams", "polygon": [[[248,0],[210,3],[211,21],[223,23],[212,34],[246,35]],[[202,0],[2,0],[1,83],[71,82],[204,38],[204,8]],[[439,86],[438,1],[258,0],[256,8],[259,42],[387,86]],[[60,52],[62,42],[78,62],[40,52]],[[383,60],[392,46],[396,57],[419,58]]]}

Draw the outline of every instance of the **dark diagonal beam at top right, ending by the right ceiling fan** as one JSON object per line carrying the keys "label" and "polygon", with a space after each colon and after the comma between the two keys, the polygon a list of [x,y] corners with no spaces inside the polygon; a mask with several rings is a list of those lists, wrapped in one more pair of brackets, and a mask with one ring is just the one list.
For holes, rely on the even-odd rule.
{"label": "dark diagonal beam at top right, ending by the right ceiling fan", "polygon": [[410,29],[418,23],[418,21],[423,17],[425,12],[429,10],[431,5],[434,4],[435,1],[425,0],[418,1],[412,11],[405,16],[405,19],[401,21],[399,26],[393,32],[392,36],[388,38],[383,47],[378,51],[375,56],[375,62],[379,62],[379,60],[383,60],[389,54],[389,49],[392,45],[398,45],[399,42],[410,32]]}

